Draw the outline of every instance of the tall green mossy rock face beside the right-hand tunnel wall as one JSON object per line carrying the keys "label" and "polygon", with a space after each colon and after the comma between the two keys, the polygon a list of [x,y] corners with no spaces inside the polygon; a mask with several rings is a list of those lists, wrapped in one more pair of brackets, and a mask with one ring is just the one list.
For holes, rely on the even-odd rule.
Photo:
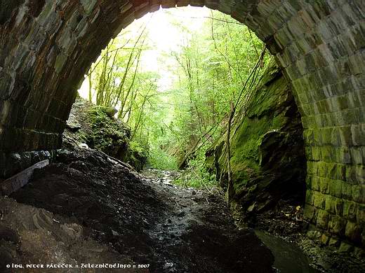
{"label": "tall green mossy rock face beside the right-hand tunnel wall", "polygon": [[[234,122],[231,134],[233,199],[244,213],[260,213],[280,199],[304,202],[303,127],[288,82],[274,63],[260,80],[246,116]],[[226,186],[225,137],[207,151],[206,162]]]}

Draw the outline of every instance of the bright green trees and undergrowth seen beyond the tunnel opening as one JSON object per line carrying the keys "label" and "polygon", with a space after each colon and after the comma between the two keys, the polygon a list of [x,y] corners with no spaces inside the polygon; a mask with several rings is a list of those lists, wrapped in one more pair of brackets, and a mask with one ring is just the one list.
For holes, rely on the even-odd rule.
{"label": "bright green trees and undergrowth seen beyond the tunnel opening", "polygon": [[[229,144],[232,120],[242,114],[270,55],[248,27],[218,11],[211,11],[199,30],[181,18],[172,22],[183,35],[177,48],[159,56],[164,71],[144,68],[143,57],[154,45],[148,21],[137,21],[91,66],[86,99],[117,109],[116,117],[131,129],[131,145],[148,154],[150,167],[184,168],[188,172],[178,182],[212,186],[206,150],[227,132]],[[166,78],[161,73],[172,79],[167,87],[161,86]]]}

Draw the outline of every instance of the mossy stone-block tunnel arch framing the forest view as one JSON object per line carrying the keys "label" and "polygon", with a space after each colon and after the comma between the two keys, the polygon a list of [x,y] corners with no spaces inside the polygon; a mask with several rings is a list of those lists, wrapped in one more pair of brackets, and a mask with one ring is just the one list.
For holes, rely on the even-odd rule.
{"label": "mossy stone-block tunnel arch framing the forest view", "polygon": [[0,1],[1,153],[58,148],[84,72],[110,39],[160,6],[189,4],[243,22],[275,55],[305,129],[312,235],[364,247],[362,0]]}

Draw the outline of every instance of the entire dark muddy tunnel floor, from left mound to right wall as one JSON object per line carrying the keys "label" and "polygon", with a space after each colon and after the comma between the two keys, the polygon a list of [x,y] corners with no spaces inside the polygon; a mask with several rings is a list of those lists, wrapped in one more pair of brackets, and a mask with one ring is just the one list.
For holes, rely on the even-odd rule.
{"label": "entire dark muddy tunnel floor, from left mound to right wall", "polygon": [[174,186],[174,172],[140,175],[120,163],[59,151],[1,197],[0,272],[365,272],[364,261],[305,237],[301,207],[279,204],[242,228],[220,195]]}

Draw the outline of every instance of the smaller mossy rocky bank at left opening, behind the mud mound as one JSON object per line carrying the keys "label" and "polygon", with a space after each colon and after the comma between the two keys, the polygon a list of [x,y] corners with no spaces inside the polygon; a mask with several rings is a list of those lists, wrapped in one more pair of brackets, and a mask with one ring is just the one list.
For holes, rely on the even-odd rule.
{"label": "smaller mossy rocky bank at left opening, behind the mud mound", "polygon": [[131,130],[121,120],[113,118],[114,114],[111,107],[95,106],[78,97],[63,133],[63,146],[75,148],[87,144],[88,148],[100,150],[140,170],[147,162],[147,155],[131,145]]}

